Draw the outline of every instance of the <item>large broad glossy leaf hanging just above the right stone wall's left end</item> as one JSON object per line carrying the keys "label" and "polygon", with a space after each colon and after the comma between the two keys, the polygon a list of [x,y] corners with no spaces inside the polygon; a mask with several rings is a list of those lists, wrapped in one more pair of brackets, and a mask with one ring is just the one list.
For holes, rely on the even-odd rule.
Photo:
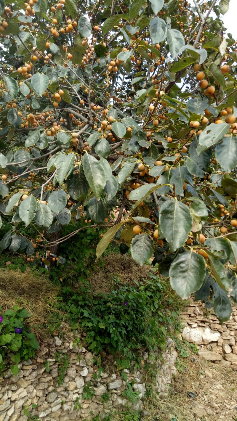
{"label": "large broad glossy leaf hanging just above the right stone wall's left end", "polygon": [[170,285],[184,299],[199,290],[206,274],[205,259],[192,250],[179,253],[170,266]]}

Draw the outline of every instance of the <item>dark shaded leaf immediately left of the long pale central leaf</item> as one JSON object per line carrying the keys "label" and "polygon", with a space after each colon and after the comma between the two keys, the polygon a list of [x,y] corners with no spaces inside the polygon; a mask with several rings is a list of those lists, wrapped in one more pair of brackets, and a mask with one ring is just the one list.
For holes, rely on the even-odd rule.
{"label": "dark shaded leaf immediately left of the long pale central leaf", "polygon": [[77,171],[77,174],[73,174],[67,179],[67,192],[72,199],[81,202],[87,196],[90,186],[85,178],[81,163],[77,167]]}

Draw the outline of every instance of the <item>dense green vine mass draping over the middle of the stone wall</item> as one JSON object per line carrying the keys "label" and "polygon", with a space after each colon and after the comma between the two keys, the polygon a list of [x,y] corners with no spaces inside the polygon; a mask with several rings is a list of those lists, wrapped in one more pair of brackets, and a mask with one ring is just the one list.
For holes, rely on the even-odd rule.
{"label": "dense green vine mass draping over the middle of the stone wall", "polygon": [[143,346],[156,349],[165,344],[166,328],[172,322],[162,304],[166,284],[153,274],[140,284],[120,285],[110,293],[91,293],[89,287],[80,293],[70,287],[62,288],[57,307],[69,320],[72,329],[78,327],[86,333],[88,348],[95,353],[105,349],[120,360],[125,367],[127,360],[136,357]]}

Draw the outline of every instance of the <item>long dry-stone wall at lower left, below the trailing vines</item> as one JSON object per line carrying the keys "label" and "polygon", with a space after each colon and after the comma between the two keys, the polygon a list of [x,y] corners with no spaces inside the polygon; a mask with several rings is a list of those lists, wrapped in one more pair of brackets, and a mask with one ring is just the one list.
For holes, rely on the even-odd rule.
{"label": "long dry-stone wall at lower left, below the trailing vines", "polygon": [[[55,360],[56,351],[67,354],[69,358],[69,367],[61,386],[57,379],[59,362]],[[141,363],[145,365],[147,362],[157,368],[155,388],[157,392],[165,392],[175,374],[177,354],[173,341],[168,339],[165,351],[156,352],[155,355],[155,360],[149,360],[149,354],[143,352]],[[47,371],[46,360],[49,361]],[[35,416],[35,419],[38,417],[43,421],[91,420],[98,414],[99,419],[103,419],[114,411],[120,412],[128,407],[141,410],[141,399],[146,392],[143,370],[133,367],[124,370],[128,381],[135,381],[133,390],[139,392],[140,399],[131,403],[123,396],[126,382],[117,372],[112,358],[108,358],[110,365],[100,376],[93,360],[93,355],[85,348],[75,346],[72,342],[62,344],[55,337],[51,344],[37,352],[34,359],[18,364],[17,376],[13,376],[10,369],[3,373],[0,378],[0,421],[27,421]],[[90,387],[95,392],[90,400],[82,399],[84,386],[88,382],[91,382]],[[79,409],[76,408],[77,402]]]}

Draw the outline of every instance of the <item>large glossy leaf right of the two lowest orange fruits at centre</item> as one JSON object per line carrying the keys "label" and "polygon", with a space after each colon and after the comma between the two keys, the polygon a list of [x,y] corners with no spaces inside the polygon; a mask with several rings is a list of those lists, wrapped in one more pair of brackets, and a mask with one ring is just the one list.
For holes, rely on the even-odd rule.
{"label": "large glossy leaf right of the two lowest orange fruits at centre", "polygon": [[192,229],[192,215],[189,208],[177,199],[167,199],[160,207],[160,228],[169,243],[171,253],[176,251],[188,238]]}

